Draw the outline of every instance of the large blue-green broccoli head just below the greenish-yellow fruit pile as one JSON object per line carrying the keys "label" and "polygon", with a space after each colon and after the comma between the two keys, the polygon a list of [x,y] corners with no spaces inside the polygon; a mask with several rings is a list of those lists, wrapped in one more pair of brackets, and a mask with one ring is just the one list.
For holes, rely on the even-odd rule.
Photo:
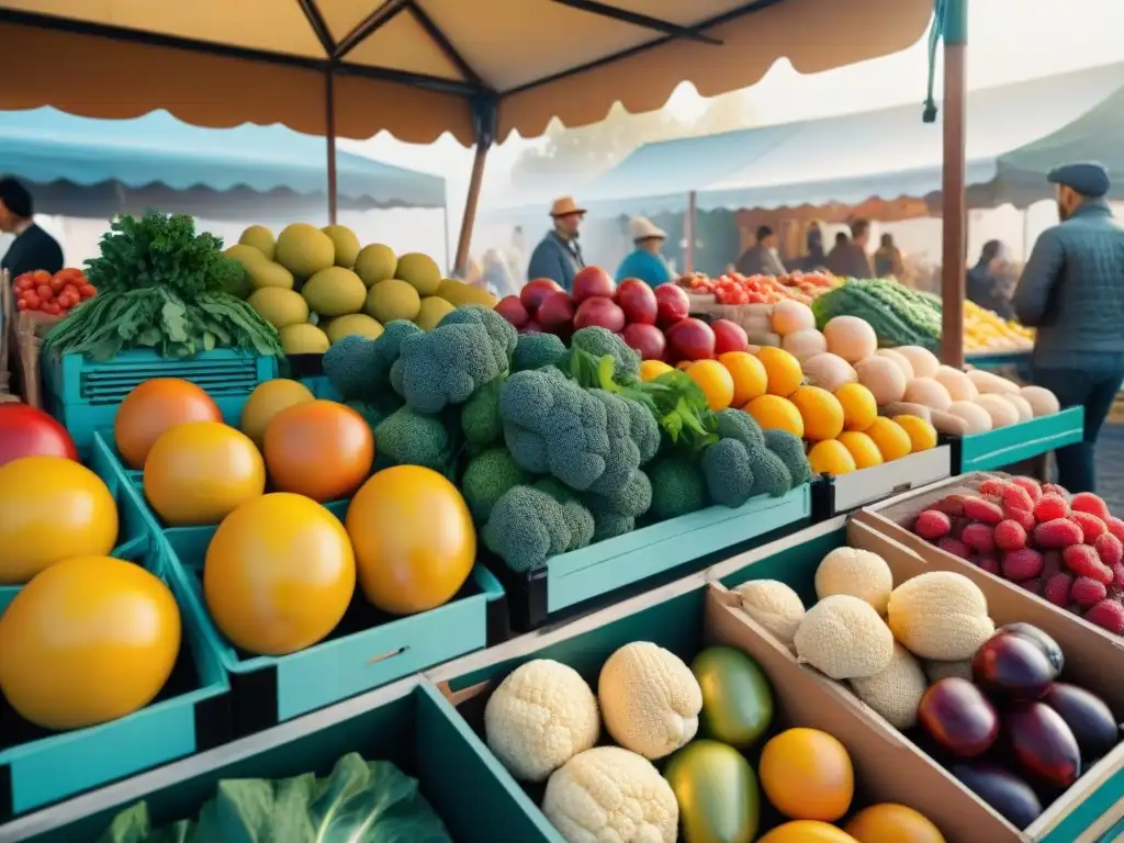
{"label": "large blue-green broccoli head just below the greenish-yellow fruit pile", "polygon": [[441,413],[506,371],[507,356],[481,325],[453,324],[402,341],[391,380],[407,406]]}

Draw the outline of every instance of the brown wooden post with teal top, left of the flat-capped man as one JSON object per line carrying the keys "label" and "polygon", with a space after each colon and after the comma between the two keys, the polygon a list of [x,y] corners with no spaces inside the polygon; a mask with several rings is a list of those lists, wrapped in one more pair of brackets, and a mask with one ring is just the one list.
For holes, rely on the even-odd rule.
{"label": "brown wooden post with teal top, left of the flat-capped man", "polygon": [[964,364],[964,264],[968,257],[968,212],[964,197],[968,0],[945,0],[945,3],[941,357],[948,365],[961,369]]}

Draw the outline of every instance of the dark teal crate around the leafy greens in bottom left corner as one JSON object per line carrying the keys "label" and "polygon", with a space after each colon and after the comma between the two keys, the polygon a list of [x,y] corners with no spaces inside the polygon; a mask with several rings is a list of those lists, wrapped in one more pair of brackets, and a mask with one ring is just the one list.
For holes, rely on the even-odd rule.
{"label": "dark teal crate around the leafy greens in bottom left corner", "polygon": [[0,826],[0,840],[94,841],[119,810],[142,799],[163,826],[196,816],[220,780],[323,774],[348,752],[391,761],[417,778],[457,843],[542,840],[545,819],[538,809],[499,781],[497,762],[475,743],[445,698],[411,677]]}

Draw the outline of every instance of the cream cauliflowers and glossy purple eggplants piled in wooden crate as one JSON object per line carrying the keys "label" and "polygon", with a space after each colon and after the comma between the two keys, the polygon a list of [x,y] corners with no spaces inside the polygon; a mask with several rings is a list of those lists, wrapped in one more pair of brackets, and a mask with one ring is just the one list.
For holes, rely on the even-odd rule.
{"label": "cream cauliflowers and glossy purple eggplants piled in wooden crate", "polygon": [[805,609],[777,580],[737,589],[742,609],[803,663],[845,681],[1017,828],[1120,741],[1103,700],[1057,681],[1058,644],[1030,624],[996,629],[962,574],[895,583],[878,554],[840,547],[819,563],[815,591]]}

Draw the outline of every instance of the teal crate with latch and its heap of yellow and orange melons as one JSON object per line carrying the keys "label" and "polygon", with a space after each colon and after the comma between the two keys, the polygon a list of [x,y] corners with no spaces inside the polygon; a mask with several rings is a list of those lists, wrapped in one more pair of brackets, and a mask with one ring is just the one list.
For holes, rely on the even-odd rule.
{"label": "teal crate with latch and its heap of yellow and orange melons", "polygon": [[274,380],[239,430],[172,424],[191,384],[172,399],[143,389],[121,405],[114,446],[143,466],[132,483],[232,674],[239,733],[506,635],[504,592],[475,564],[460,492],[417,465],[372,474],[373,436],[354,409]]}

